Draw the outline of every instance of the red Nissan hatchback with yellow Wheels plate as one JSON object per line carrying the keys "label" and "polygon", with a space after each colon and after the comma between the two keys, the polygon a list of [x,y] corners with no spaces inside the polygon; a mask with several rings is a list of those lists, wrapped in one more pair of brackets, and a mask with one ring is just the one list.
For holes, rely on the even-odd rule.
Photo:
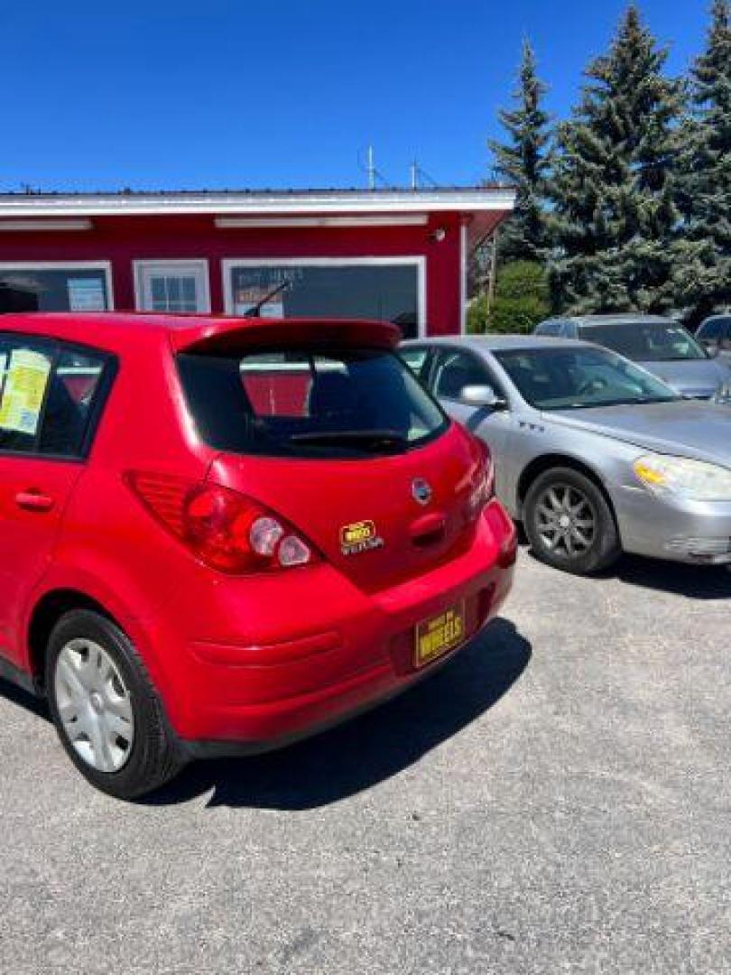
{"label": "red Nissan hatchback with yellow Wheels plate", "polygon": [[0,674],[98,788],[414,683],[505,599],[484,448],[370,322],[7,315]]}

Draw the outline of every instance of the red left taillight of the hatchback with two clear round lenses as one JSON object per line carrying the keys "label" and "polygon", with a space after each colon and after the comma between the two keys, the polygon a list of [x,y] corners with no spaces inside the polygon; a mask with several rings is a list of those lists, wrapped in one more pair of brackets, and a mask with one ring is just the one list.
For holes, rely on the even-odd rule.
{"label": "red left taillight of the hatchback with two clear round lenses", "polygon": [[155,518],[212,568],[262,572],[317,559],[287,522],[230,487],[142,471],[126,480]]}

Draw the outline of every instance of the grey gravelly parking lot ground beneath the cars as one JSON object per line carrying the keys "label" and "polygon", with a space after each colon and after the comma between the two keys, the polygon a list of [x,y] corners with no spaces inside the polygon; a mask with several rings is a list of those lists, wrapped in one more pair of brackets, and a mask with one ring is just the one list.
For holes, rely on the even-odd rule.
{"label": "grey gravelly parking lot ground beneath the cars", "polygon": [[0,972],[728,972],[730,597],[522,551],[433,680],[143,805],[1,685]]}

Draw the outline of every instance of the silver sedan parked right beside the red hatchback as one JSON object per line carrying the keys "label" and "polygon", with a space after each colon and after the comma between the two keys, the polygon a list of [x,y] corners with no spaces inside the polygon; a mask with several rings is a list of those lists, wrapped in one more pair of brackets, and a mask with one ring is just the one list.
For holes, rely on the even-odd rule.
{"label": "silver sedan parked right beside the red hatchback", "polygon": [[543,562],[731,563],[731,410],[571,339],[423,339],[401,355],[488,445],[496,493]]}

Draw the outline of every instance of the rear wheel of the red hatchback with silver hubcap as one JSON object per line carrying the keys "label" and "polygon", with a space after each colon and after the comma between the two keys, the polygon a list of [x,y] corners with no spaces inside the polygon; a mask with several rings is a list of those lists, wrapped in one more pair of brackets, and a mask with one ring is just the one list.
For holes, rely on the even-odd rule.
{"label": "rear wheel of the red hatchback with silver hubcap", "polygon": [[46,687],[63,747],[102,792],[135,799],[182,767],[135,646],[100,613],[74,609],[60,618],[49,640]]}

